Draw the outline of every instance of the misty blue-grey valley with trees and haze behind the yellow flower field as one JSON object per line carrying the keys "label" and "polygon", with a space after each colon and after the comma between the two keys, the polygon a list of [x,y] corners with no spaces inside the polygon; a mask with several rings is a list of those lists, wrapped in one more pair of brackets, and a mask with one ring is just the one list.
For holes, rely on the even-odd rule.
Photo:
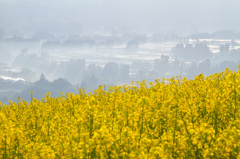
{"label": "misty blue-grey valley with trees and haze behind the yellow flower field", "polygon": [[0,0],[0,101],[238,70],[239,17],[238,0]]}

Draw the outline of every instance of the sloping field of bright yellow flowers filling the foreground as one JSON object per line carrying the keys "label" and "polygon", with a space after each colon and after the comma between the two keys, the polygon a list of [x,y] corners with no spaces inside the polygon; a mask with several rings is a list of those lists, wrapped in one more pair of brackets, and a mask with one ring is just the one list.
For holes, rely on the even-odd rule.
{"label": "sloping field of bright yellow flowers filling the foreground", "polygon": [[[1,103],[0,103],[1,105]],[[0,108],[0,158],[238,158],[240,67]]]}

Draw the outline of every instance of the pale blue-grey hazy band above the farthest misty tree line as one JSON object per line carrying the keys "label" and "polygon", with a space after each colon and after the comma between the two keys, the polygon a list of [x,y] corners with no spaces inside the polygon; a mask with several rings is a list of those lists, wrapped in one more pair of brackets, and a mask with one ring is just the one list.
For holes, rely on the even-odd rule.
{"label": "pale blue-grey hazy band above the farthest misty tree line", "polygon": [[0,28],[20,32],[240,31],[239,17],[240,0],[0,0]]}

